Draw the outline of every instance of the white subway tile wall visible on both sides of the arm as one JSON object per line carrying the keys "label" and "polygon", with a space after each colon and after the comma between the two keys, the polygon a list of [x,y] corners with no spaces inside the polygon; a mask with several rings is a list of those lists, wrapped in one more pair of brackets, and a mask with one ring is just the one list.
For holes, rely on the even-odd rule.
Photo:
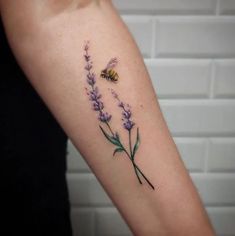
{"label": "white subway tile wall visible on both sides of the arm", "polygon": [[[217,235],[234,236],[235,0],[113,2],[141,49]],[[68,149],[74,235],[131,235],[70,142]]]}

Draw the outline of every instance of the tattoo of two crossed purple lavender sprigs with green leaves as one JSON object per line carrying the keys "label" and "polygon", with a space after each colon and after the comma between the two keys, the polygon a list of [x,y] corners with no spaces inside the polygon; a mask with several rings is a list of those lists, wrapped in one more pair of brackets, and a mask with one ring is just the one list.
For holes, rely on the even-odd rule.
{"label": "tattoo of two crossed purple lavender sprigs with green leaves", "polygon": [[[87,84],[89,85],[89,89],[86,88],[86,93],[89,97],[89,100],[92,103],[92,108],[94,111],[98,113],[98,120],[104,124],[108,131],[105,131],[103,125],[99,125],[101,132],[105,136],[105,138],[115,145],[115,150],[113,152],[113,156],[118,152],[124,152],[126,156],[130,159],[132,162],[135,174],[138,178],[138,181],[140,184],[142,184],[142,181],[140,179],[140,175],[146,180],[146,182],[150,185],[150,187],[154,190],[154,186],[151,184],[151,182],[148,180],[148,178],[143,174],[143,172],[140,170],[140,168],[135,163],[135,154],[139,148],[140,145],[140,134],[139,134],[139,128],[137,127],[137,134],[136,134],[136,141],[134,146],[132,146],[131,143],[131,135],[133,127],[135,126],[135,123],[132,121],[132,112],[131,107],[129,104],[123,103],[120,99],[118,94],[111,89],[111,93],[113,97],[118,101],[118,106],[122,110],[122,121],[123,121],[123,128],[128,132],[128,138],[129,138],[129,150],[124,147],[120,140],[120,136],[117,132],[114,132],[110,126],[110,121],[112,119],[112,115],[110,115],[108,112],[104,110],[104,103],[102,102],[101,98],[102,95],[99,93],[98,86],[96,85],[96,75],[94,72],[92,72],[93,69],[93,61],[91,60],[91,56],[89,55],[89,42],[85,43],[84,46],[84,58],[86,62],[85,70],[86,70],[86,78],[87,78]],[[116,62],[115,62],[116,63]]]}

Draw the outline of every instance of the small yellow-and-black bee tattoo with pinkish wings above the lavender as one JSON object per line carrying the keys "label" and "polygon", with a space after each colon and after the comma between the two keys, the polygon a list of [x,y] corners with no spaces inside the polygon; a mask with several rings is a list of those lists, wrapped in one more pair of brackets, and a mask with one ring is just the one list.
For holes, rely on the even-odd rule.
{"label": "small yellow-and-black bee tattoo with pinkish wings above the lavender", "polygon": [[100,77],[106,79],[107,81],[116,83],[119,79],[119,75],[113,68],[117,65],[117,63],[118,60],[116,57],[110,59],[105,69],[101,71]]}

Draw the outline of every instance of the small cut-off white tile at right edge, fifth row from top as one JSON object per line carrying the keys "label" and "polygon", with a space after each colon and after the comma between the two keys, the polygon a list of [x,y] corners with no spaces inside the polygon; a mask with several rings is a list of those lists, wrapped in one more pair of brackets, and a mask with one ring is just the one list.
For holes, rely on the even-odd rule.
{"label": "small cut-off white tile at right edge, fifth row from top", "polygon": [[210,140],[208,169],[216,172],[235,172],[235,138]]}

